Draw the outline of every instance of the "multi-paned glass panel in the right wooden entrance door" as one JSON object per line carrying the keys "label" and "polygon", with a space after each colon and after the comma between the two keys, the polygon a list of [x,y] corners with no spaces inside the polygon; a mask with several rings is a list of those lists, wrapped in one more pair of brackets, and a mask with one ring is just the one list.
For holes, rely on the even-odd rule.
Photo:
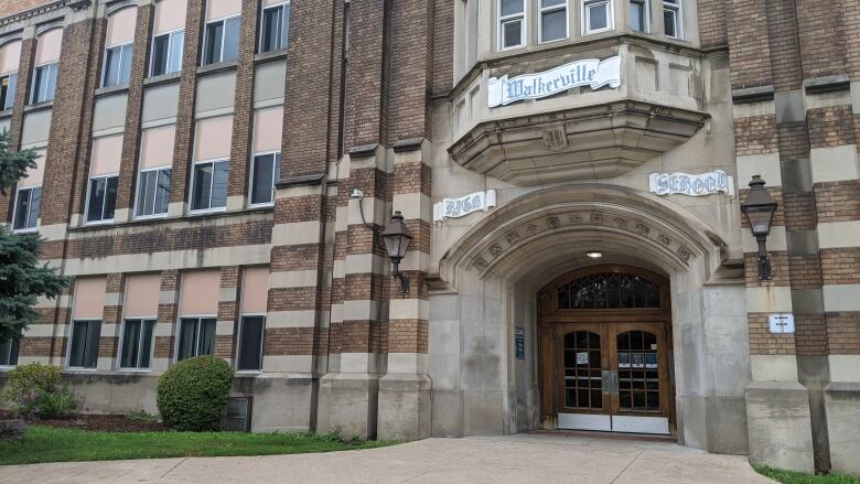
{"label": "multi-paned glass panel in the right wooden entrance door", "polygon": [[624,411],[659,411],[657,335],[647,331],[620,333],[617,349],[619,408]]}

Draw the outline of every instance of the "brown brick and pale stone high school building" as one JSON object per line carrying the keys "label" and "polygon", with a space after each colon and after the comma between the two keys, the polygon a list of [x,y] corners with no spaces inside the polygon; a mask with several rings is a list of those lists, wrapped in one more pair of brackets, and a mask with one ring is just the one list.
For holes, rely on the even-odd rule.
{"label": "brown brick and pale stone high school building", "polygon": [[857,0],[2,1],[41,158],[0,215],[75,282],[0,368],[154,411],[214,354],[259,431],[860,473],[859,76]]}

